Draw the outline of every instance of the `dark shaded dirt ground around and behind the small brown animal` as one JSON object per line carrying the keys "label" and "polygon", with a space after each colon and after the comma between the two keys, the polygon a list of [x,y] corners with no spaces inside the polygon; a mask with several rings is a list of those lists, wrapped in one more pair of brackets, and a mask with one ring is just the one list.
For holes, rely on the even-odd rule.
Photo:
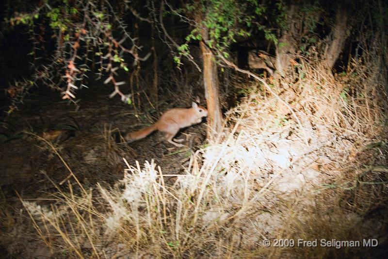
{"label": "dark shaded dirt ground around and behind the small brown animal", "polygon": [[[131,165],[136,160],[142,165],[145,160],[154,159],[163,173],[184,171],[190,155],[205,138],[205,124],[178,133],[177,138],[185,138],[183,148],[165,142],[159,132],[130,144],[115,143],[110,138],[110,130],[135,131],[157,121],[160,114],[146,99],[135,112],[133,105],[122,103],[119,97],[109,99],[110,91],[106,86],[80,91],[77,110],[74,104],[63,102],[58,92],[30,94],[20,110],[2,119],[0,190],[4,197],[2,202],[13,207],[15,214],[22,209],[18,195],[23,199],[41,200],[44,204],[52,198],[50,193],[56,191],[55,185],[60,186],[69,178],[74,182],[68,177],[69,169],[87,189],[94,188],[97,182],[110,186],[121,179],[126,168],[123,157]],[[160,112],[190,105],[189,102],[179,104],[178,100],[163,101],[167,105],[163,105]],[[6,104],[1,108],[6,110]],[[5,205],[2,209],[6,214]],[[5,224],[2,228],[7,231]],[[29,238],[26,240],[32,242]],[[1,247],[5,245],[0,245],[0,255],[7,257],[6,249]],[[43,243],[41,246],[34,243],[31,250],[21,255],[35,258],[49,254],[47,249],[46,252],[42,249],[45,249]]]}

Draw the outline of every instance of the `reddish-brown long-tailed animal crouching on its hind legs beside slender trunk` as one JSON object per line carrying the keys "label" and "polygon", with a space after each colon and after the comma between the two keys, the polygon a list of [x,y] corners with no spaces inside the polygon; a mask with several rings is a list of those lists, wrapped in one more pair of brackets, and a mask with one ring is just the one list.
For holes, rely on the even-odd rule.
{"label": "reddish-brown long-tailed animal crouching on its hind legs beside slender trunk", "polygon": [[[165,136],[169,143],[181,147],[183,145],[173,141],[173,138],[177,135],[179,129],[200,123],[202,117],[206,116],[208,116],[208,110],[202,106],[198,106],[196,103],[192,103],[192,107],[188,109],[173,108],[166,111],[155,124],[135,132],[127,133],[124,138],[131,142],[146,138],[153,131],[159,130],[166,134]],[[183,139],[178,139],[176,141],[183,141]]]}

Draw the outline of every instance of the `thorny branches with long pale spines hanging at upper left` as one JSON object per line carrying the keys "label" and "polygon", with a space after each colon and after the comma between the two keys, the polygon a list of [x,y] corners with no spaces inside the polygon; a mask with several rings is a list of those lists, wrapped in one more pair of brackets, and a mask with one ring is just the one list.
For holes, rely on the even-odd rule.
{"label": "thorny branches with long pale spines hanging at upper left", "polygon": [[[47,17],[50,11],[58,7],[45,3],[29,14],[32,17],[36,15],[42,17],[34,21],[31,25],[34,71],[31,80],[16,82],[15,86],[8,88],[8,92],[13,98],[8,113],[15,110],[18,104],[23,103],[24,96],[29,92],[29,89],[38,84],[60,90],[63,94],[63,99],[69,100],[77,105],[77,102],[74,100],[76,98],[75,91],[81,87],[87,87],[82,82],[84,77],[87,77],[86,72],[90,71],[88,64],[93,62],[89,57],[90,54],[100,56],[99,62],[95,63],[99,65],[99,72],[97,74],[102,75],[102,72],[109,74],[105,83],[107,84],[112,81],[114,87],[114,91],[110,97],[112,98],[115,94],[119,94],[122,99],[127,98],[119,89],[119,86],[125,82],[116,82],[114,79],[117,69],[129,70],[124,63],[123,54],[129,53],[133,57],[134,64],[136,65],[139,61],[147,60],[151,52],[148,52],[144,57],[138,54],[138,51],[142,47],[136,44],[136,38],[132,38],[129,35],[129,32],[126,30],[127,25],[118,17],[108,0],[102,1],[101,5],[97,5],[95,2],[89,0],[80,0],[71,3],[73,4],[71,7],[78,10],[77,14],[82,15],[71,15],[66,12],[60,13],[60,15],[64,16],[63,20],[61,20],[64,26],[62,28],[59,26],[53,27],[52,20]],[[137,15],[132,7],[127,7],[135,17],[141,20],[147,20]],[[112,25],[109,21],[110,17],[113,17],[114,25],[124,35],[121,40],[113,37]],[[81,21],[79,21],[80,18]],[[17,20],[17,17],[15,20]],[[42,35],[44,35],[43,32],[48,26],[53,28],[52,37],[56,38],[56,50],[49,55],[49,58],[45,59],[41,54],[41,52],[47,52],[45,39]],[[42,31],[40,35],[35,33],[38,29]],[[130,49],[123,45],[128,39],[131,43]],[[39,55],[36,54],[37,52],[39,52]],[[104,60],[107,58],[109,58],[108,64],[104,65]],[[38,60],[39,62],[36,62]],[[113,67],[113,62],[120,63],[120,66]]]}

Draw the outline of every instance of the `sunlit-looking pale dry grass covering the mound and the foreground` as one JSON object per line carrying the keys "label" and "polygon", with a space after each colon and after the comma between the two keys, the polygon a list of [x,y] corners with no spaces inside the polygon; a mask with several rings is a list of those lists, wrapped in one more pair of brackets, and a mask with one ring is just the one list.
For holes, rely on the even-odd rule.
{"label": "sunlit-looking pale dry grass covering the mound and the foreground", "polygon": [[[80,258],[371,256],[363,247],[262,244],[384,242],[375,226],[387,226],[385,103],[342,94],[345,85],[360,89],[303,69],[303,80],[275,87],[301,124],[259,85],[245,87],[246,99],[227,113],[231,127],[191,156],[185,174],[163,175],[153,160],[132,166],[125,158],[125,176],[111,188],[73,186],[73,174],[66,188],[52,183],[50,207],[23,201],[37,233],[54,255]],[[109,138],[104,146],[117,154]]]}

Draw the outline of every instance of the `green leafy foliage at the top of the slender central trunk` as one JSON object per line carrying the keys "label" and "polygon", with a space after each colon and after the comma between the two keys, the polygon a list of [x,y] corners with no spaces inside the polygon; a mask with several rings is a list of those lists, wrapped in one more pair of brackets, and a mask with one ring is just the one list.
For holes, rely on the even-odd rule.
{"label": "green leafy foliage at the top of the slender central trunk", "polygon": [[[263,31],[267,40],[276,43],[274,32],[259,22],[267,11],[267,6],[257,0],[201,0],[186,4],[174,14],[194,17],[197,23],[186,36],[186,43],[178,47],[179,55],[187,56],[188,42],[203,40],[203,29],[209,34],[206,44],[225,58],[229,57],[231,44],[237,38],[250,37],[254,29]],[[175,61],[180,62],[178,58]]]}

